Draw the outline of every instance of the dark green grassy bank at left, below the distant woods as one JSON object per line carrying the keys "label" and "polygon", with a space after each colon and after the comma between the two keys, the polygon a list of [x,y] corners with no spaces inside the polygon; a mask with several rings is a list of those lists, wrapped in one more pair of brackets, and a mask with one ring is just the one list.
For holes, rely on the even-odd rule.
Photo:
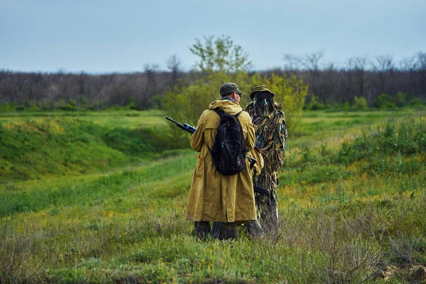
{"label": "dark green grassy bank at left, below the distant woods", "polygon": [[167,149],[171,139],[161,133],[165,119],[159,111],[32,115],[1,116],[0,183],[93,173],[149,160]]}

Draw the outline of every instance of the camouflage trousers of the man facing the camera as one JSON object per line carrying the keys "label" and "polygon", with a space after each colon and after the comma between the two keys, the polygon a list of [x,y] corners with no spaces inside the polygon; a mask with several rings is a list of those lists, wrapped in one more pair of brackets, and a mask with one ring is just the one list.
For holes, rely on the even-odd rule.
{"label": "camouflage trousers of the man facing the camera", "polygon": [[258,175],[254,180],[255,185],[267,190],[266,194],[255,192],[258,220],[266,234],[275,234],[278,230],[278,198],[277,198],[277,174]]}

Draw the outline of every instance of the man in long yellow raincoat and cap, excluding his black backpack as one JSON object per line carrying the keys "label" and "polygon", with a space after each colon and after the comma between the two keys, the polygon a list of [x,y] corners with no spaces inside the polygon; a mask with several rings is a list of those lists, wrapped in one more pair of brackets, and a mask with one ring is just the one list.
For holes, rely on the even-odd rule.
{"label": "man in long yellow raincoat and cap, excluding his black backpack", "polygon": [[[212,237],[217,239],[236,239],[237,224],[256,222],[256,204],[253,192],[252,173],[246,159],[244,169],[236,175],[222,175],[214,167],[209,148],[213,147],[220,118],[213,109],[222,109],[235,115],[242,111],[240,96],[244,95],[237,84],[226,83],[220,87],[221,99],[209,105],[197,122],[197,130],[191,136],[191,147],[200,152],[187,204],[187,219],[195,222],[195,236],[208,238],[211,227],[209,222],[220,222],[219,231]],[[255,130],[251,117],[246,111],[238,116],[241,123],[249,155],[258,162],[258,173],[263,167],[261,154],[254,149]],[[257,223],[258,224],[258,223]],[[260,226],[259,226],[260,228]]]}

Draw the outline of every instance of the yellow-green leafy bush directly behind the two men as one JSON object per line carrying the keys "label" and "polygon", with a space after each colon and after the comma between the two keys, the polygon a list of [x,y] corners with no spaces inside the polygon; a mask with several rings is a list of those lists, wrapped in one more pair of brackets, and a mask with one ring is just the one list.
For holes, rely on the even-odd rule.
{"label": "yellow-green leafy bush directly behind the two men", "polygon": [[[209,107],[209,103],[219,99],[219,87],[224,82],[236,82],[240,89],[246,93],[241,97],[241,106],[250,102],[251,89],[258,84],[266,84],[271,92],[275,93],[275,101],[283,104],[289,131],[297,126],[302,115],[305,103],[307,85],[295,76],[275,75],[271,78],[261,77],[260,74],[248,75],[246,72],[225,75],[213,72],[190,86],[175,86],[166,93],[163,106],[168,116],[176,121],[185,122],[195,126],[202,111]],[[176,129],[176,135],[182,135]],[[180,134],[178,134],[180,133]]]}

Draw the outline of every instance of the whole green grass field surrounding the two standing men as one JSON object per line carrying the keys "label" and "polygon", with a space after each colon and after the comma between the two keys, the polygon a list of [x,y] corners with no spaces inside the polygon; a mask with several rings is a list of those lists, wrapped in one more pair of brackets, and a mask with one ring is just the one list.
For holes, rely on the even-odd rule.
{"label": "whole green grass field surrounding the two standing men", "polygon": [[236,241],[193,238],[164,117],[0,114],[0,283],[425,283],[425,111],[305,112],[278,235]]}

